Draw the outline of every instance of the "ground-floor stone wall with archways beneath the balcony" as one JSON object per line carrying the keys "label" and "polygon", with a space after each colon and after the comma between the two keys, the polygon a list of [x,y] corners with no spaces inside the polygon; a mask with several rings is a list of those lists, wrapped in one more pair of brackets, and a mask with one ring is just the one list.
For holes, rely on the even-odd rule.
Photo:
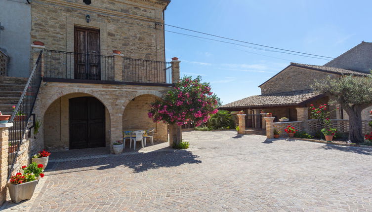
{"label": "ground-floor stone wall with archways beneath the balcony", "polygon": [[[138,86],[138,85],[109,85],[109,84],[83,84],[83,83],[59,83],[48,82],[41,84],[34,113],[37,119],[43,120],[40,135],[37,137],[39,148],[46,144],[55,148],[66,148],[69,143],[68,125],[68,99],[81,96],[92,96],[97,98],[106,107],[106,141],[107,144],[123,139],[122,131],[123,114],[126,106],[131,100],[144,95],[162,97],[169,87],[164,86]],[[141,98],[140,98],[141,99]],[[145,101],[147,102],[147,101]],[[59,104],[58,104],[59,103]],[[143,103],[143,102],[142,102]],[[145,106],[143,106],[143,110]],[[136,110],[133,111],[137,115]],[[125,114],[124,114],[125,115]],[[128,114],[132,117],[135,115]],[[61,118],[59,118],[60,116]],[[145,117],[145,116],[144,116]],[[141,119],[143,117],[141,116]],[[149,118],[146,114],[146,123]],[[133,123],[134,124],[134,123]],[[60,128],[58,130],[58,128]],[[56,131],[55,131],[56,130]],[[59,133],[58,133],[59,132]],[[157,126],[157,138],[160,141],[167,141],[166,126]],[[45,143],[44,143],[45,137]],[[58,144],[60,143],[60,144]]]}

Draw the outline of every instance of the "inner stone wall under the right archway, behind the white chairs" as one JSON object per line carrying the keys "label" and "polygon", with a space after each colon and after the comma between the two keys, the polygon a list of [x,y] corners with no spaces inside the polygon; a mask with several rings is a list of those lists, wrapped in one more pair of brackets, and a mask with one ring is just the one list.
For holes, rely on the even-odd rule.
{"label": "inner stone wall under the right archway, behind the white chairs", "polygon": [[141,95],[129,102],[125,107],[123,114],[124,130],[148,130],[155,128],[154,141],[167,141],[167,126],[164,123],[154,123],[148,117],[147,112],[150,109],[150,103],[159,97],[153,95]]}

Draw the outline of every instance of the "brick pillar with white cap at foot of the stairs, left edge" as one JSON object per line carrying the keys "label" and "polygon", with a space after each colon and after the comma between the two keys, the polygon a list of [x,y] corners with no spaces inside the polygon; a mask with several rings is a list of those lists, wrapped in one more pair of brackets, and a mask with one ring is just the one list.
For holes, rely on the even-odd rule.
{"label": "brick pillar with white cap at foot of the stairs, left edge", "polygon": [[13,123],[0,124],[0,205],[6,199],[6,181],[8,177],[8,148],[9,148],[9,131]]}

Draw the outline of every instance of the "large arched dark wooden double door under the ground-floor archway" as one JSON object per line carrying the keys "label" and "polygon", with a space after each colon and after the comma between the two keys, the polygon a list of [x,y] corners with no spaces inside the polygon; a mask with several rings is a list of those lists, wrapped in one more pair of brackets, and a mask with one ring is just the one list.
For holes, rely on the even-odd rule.
{"label": "large arched dark wooden double door under the ground-floor archway", "polygon": [[69,100],[70,149],[104,147],[105,106],[94,97]]}

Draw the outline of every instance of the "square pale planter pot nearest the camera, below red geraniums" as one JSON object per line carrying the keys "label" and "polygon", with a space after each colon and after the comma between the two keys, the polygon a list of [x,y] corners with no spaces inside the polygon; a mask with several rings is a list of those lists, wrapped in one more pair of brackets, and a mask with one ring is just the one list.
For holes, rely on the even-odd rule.
{"label": "square pale planter pot nearest the camera, below red geraniums", "polygon": [[19,203],[22,200],[31,199],[32,195],[34,194],[36,184],[38,184],[38,181],[39,180],[34,180],[31,182],[25,182],[18,185],[8,182],[10,199],[15,203]]}

